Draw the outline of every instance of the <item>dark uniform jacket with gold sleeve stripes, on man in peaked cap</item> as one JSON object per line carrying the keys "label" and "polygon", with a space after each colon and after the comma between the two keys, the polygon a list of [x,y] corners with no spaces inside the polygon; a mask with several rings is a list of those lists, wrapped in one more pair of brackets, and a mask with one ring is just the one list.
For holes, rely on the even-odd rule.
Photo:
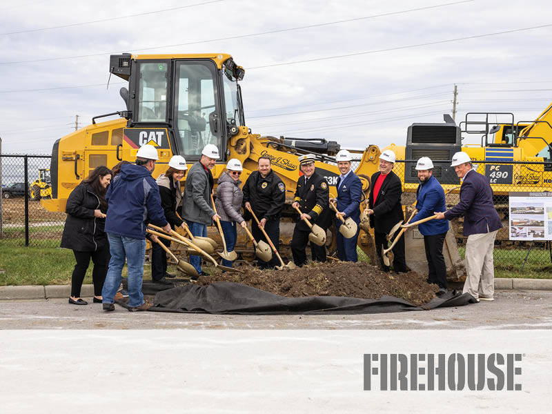
{"label": "dark uniform jacket with gold sleeve stripes, on man in peaked cap", "polygon": [[[306,184],[305,176],[299,177],[293,201],[299,203],[299,210],[302,213],[307,213],[312,217],[309,220],[311,224],[328,228],[331,222],[329,199],[330,190],[328,188],[328,181],[324,177],[314,172],[311,178],[306,181]],[[297,226],[299,226],[299,230],[310,230],[303,220],[297,221]]]}

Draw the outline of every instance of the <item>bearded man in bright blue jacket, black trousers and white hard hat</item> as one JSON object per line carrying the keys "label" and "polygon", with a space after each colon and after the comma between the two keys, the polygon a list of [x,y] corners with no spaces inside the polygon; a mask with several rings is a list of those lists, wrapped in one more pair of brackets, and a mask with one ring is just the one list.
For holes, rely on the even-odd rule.
{"label": "bearded man in bright blue jacket, black trousers and white hard hat", "polygon": [[[433,177],[433,161],[428,157],[418,159],[416,163],[420,186],[416,191],[417,214],[411,223],[432,216],[434,211],[445,211],[444,190],[439,181]],[[449,221],[446,219],[430,220],[418,226],[424,236],[428,266],[428,282],[439,285],[440,295],[446,292],[446,265],[443,257],[443,244]]]}

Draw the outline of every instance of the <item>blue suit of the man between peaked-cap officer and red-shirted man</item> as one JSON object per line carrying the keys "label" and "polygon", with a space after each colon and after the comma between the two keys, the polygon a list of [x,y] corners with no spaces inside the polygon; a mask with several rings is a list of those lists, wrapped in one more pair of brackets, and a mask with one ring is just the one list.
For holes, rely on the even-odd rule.
{"label": "blue suit of the man between peaked-cap officer and red-shirted man", "polygon": [[340,219],[335,219],[337,229],[337,257],[342,262],[357,262],[357,239],[360,230],[360,201],[362,199],[362,182],[359,177],[349,171],[345,177],[337,181],[337,210],[345,213],[344,219],[351,217],[357,224],[357,234],[350,239],[339,233]]}

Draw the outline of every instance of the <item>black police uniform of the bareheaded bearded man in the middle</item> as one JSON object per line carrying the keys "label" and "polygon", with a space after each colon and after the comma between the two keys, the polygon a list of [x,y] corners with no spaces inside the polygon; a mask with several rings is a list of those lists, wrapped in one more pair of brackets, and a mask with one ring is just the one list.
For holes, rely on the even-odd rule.
{"label": "black police uniform of the bareheaded bearded man in the middle", "polygon": [[[286,203],[286,186],[284,182],[273,170],[270,170],[266,177],[262,177],[259,171],[254,171],[247,178],[242,191],[244,192],[244,206],[246,202],[249,202],[253,213],[255,213],[259,221],[266,219],[264,230],[268,237],[270,237],[270,241],[273,242],[276,250],[278,250],[280,214]],[[250,218],[253,217],[250,217],[249,211],[245,210],[244,219],[248,220]],[[251,233],[255,237],[255,240],[268,242],[256,223],[251,225]],[[264,262],[261,259],[258,259],[257,262],[259,268],[274,268],[279,265],[276,255],[273,255],[270,262]]]}

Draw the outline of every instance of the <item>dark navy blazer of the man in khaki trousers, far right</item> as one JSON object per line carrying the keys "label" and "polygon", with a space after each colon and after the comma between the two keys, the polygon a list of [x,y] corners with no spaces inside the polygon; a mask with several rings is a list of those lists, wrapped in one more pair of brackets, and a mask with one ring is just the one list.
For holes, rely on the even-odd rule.
{"label": "dark navy blazer of the man in khaki trousers, far right", "polygon": [[464,236],[490,233],[502,227],[493,204],[493,189],[489,180],[475,170],[469,170],[460,187],[460,203],[444,213],[447,220],[464,215]]}

